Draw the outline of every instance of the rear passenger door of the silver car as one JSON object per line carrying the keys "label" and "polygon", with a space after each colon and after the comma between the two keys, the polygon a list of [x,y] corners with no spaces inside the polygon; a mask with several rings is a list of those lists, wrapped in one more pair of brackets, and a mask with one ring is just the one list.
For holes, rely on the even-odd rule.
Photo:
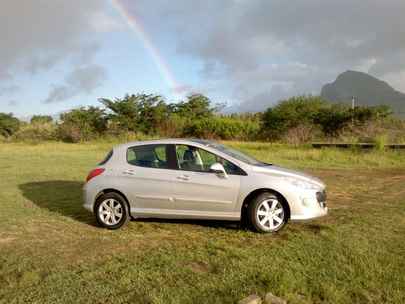
{"label": "rear passenger door of the silver car", "polygon": [[139,209],[175,212],[173,169],[168,169],[165,144],[128,147],[117,177]]}

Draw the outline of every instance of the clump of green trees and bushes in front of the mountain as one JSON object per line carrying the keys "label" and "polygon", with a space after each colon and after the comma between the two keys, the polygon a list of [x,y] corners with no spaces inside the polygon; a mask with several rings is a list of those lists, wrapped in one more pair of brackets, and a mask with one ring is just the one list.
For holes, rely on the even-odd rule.
{"label": "clump of green trees and bushes in front of the mountain", "polygon": [[[352,108],[344,102],[329,104],[321,96],[300,95],[289,100],[280,100],[268,108],[263,113],[263,131],[279,138],[287,136],[297,140],[300,137],[300,140],[305,140],[319,136],[319,129],[334,140],[338,136],[344,139],[348,134],[370,138],[378,132],[379,123],[387,119],[392,112],[386,104]],[[302,131],[302,126],[311,126],[314,133],[297,136],[295,131]]]}

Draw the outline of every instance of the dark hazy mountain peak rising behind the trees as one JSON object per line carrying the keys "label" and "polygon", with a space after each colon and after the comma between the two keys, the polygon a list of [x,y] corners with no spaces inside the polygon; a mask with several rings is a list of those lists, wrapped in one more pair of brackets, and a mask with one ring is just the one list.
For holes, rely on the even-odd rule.
{"label": "dark hazy mountain peak rising behind the trees", "polygon": [[363,72],[347,70],[341,73],[335,82],[322,87],[320,95],[332,103],[351,103],[349,97],[354,98],[354,105],[375,106],[385,103],[394,109],[392,117],[405,119],[405,94]]}

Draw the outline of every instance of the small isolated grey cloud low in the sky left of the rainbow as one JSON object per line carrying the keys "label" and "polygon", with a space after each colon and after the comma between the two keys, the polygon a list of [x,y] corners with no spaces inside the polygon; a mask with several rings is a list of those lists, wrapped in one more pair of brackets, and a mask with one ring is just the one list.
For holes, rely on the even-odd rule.
{"label": "small isolated grey cloud low in the sky left of the rainbow", "polygon": [[102,86],[107,77],[107,70],[99,65],[77,68],[65,77],[65,84],[51,85],[51,91],[44,103],[55,103],[67,100],[77,94],[90,94]]}

